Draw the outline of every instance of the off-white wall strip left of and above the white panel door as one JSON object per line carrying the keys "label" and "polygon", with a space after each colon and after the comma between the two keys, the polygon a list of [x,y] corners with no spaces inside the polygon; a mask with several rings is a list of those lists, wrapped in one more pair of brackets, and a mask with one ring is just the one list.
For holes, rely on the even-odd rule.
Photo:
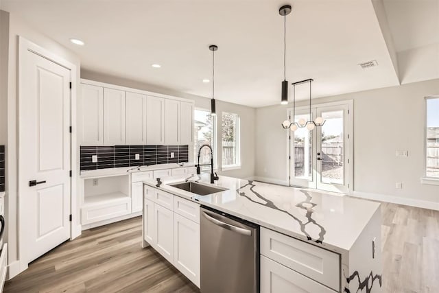
{"label": "off-white wall strip left of and above the white panel door", "polygon": [[[8,12],[3,12],[8,14]],[[3,23],[2,23],[3,25]],[[3,28],[3,27],[2,27]],[[6,198],[5,198],[5,215],[7,226],[5,231],[5,242],[8,242],[8,261],[10,266],[10,275],[16,274],[19,270],[17,259],[19,259],[17,246],[17,54],[18,54],[18,36],[23,36],[31,42],[51,51],[53,54],[68,60],[80,68],[80,60],[69,49],[62,47],[60,44],[51,40],[47,36],[36,32],[32,27],[27,25],[14,14],[9,14],[9,56],[8,56],[8,134],[6,144]],[[2,40],[3,41],[3,40]],[[78,71],[79,72],[79,71]],[[73,86],[79,84],[79,74],[73,77]]]}

